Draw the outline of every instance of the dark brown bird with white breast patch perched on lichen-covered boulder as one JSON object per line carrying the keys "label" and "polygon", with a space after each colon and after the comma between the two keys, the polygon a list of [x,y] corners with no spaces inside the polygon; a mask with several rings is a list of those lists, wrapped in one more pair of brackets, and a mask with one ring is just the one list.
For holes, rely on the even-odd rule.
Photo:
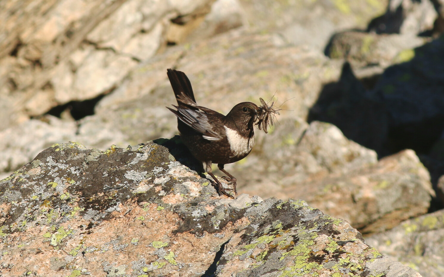
{"label": "dark brown bird with white breast patch perched on lichen-covered boulder", "polygon": [[224,169],[227,163],[237,162],[250,154],[254,145],[254,122],[261,114],[260,108],[251,102],[234,106],[227,115],[206,107],[198,106],[194,99],[190,80],[182,71],[167,69],[176,96],[176,109],[167,107],[177,116],[177,128],[182,142],[199,161],[205,162],[206,172],[218,184],[219,194],[229,197],[221,182],[214,176],[211,164],[217,163],[225,173],[225,180],[233,185],[237,195],[236,178]]}

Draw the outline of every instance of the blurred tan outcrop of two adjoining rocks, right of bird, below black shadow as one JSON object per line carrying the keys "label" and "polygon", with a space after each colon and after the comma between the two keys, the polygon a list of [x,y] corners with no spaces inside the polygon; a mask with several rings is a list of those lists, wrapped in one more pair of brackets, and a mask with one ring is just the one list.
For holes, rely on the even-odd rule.
{"label": "blurred tan outcrop of two adjoining rocks, right of bird, below black shadow", "polygon": [[329,123],[282,124],[264,138],[262,160],[247,158],[233,166],[239,191],[304,199],[363,233],[388,230],[427,213],[435,192],[414,151],[377,161],[373,150],[346,139]]}

